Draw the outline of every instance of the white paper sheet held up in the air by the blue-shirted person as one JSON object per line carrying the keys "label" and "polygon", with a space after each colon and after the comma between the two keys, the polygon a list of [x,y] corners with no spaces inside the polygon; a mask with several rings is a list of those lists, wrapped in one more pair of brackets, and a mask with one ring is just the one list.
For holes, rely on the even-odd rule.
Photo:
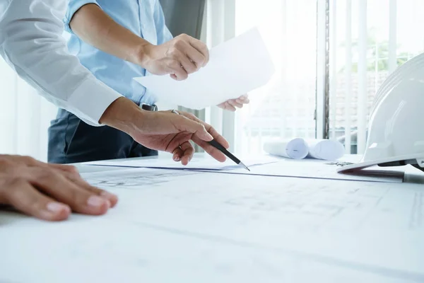
{"label": "white paper sheet held up in the air by the blue-shirted person", "polygon": [[135,80],[159,101],[202,109],[264,86],[273,73],[264,40],[254,28],[214,47],[208,65],[185,81],[175,81],[170,76],[144,76]]}

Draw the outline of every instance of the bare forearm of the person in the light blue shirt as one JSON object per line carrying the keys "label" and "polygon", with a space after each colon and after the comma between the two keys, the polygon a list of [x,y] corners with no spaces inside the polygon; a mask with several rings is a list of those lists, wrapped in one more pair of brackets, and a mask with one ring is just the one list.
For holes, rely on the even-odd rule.
{"label": "bare forearm of the person in the light blue shirt", "polygon": [[134,64],[141,64],[143,47],[151,45],[116,23],[95,4],[82,6],[73,15],[70,26],[84,42]]}

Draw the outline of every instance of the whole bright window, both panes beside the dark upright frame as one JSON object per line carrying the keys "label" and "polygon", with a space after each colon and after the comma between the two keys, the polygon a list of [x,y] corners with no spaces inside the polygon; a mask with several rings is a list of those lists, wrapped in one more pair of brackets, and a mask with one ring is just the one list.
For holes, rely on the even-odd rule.
{"label": "whole bright window, both panes beside the dark upright frame", "polygon": [[[259,25],[276,74],[237,112],[236,151],[260,153],[266,140],[315,137],[317,3],[329,11],[329,138],[365,151],[375,93],[397,66],[424,51],[424,1],[235,0],[236,34]],[[318,93],[319,95],[319,93]]]}

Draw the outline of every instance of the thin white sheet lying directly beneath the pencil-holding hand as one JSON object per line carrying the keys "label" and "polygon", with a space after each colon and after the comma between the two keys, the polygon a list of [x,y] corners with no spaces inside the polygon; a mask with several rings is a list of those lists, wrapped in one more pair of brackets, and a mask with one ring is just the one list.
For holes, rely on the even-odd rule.
{"label": "thin white sheet lying directly beneath the pencil-holding hand", "polygon": [[[262,157],[258,159],[243,160],[247,167],[259,166],[271,162],[275,162],[275,158]],[[213,170],[213,171],[225,171],[241,168],[230,158],[223,163],[216,161],[211,157],[206,158],[193,158],[192,161],[183,166],[181,162],[175,162],[172,158],[158,158],[158,159],[118,159],[112,161],[93,161],[84,163],[86,165],[95,166],[117,166],[117,167],[134,167],[134,168],[172,168],[172,169],[190,169],[190,170]]]}

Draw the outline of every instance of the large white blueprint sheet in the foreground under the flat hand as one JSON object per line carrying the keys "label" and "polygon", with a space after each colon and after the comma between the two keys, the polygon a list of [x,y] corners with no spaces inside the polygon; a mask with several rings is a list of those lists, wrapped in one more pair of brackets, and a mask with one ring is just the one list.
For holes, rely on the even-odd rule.
{"label": "large white blueprint sheet in the foreground under the flat hand", "polygon": [[84,174],[124,180],[105,216],[0,214],[0,282],[424,280],[422,185],[163,173]]}

